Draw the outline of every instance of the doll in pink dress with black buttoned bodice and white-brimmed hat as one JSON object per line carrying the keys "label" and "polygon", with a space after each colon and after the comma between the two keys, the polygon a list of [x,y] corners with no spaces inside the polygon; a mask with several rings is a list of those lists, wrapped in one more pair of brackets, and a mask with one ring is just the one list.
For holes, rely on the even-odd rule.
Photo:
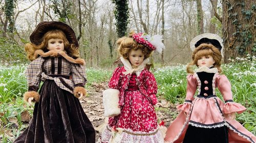
{"label": "doll in pink dress with black buttoned bodice and white-brimmed hat", "polygon": [[[222,42],[218,35],[210,33],[190,42],[193,61],[187,65],[186,98],[177,106],[181,112],[168,127],[166,142],[255,143],[255,136],[235,120],[235,113],[246,108],[233,102],[230,82],[221,74]],[[195,72],[193,65],[198,67]],[[216,96],[216,88],[225,102]]]}

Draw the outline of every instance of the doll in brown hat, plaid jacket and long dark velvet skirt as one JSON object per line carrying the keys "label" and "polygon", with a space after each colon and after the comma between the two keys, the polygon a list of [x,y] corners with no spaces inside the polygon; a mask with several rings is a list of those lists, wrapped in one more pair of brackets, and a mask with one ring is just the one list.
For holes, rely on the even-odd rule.
{"label": "doll in brown hat, plaid jacket and long dark velvet skirt", "polygon": [[63,22],[44,21],[30,41],[25,46],[32,62],[25,72],[24,100],[35,105],[29,127],[14,142],[95,142],[94,128],[78,99],[86,95],[87,78],[74,31]]}

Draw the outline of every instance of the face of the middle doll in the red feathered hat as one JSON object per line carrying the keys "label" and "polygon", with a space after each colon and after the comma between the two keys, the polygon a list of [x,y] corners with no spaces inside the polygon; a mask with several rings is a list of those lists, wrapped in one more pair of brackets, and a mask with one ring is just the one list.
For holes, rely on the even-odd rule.
{"label": "face of the middle doll in the red feathered hat", "polygon": [[138,67],[144,60],[144,53],[142,53],[141,49],[131,50],[129,53],[129,60],[132,66]]}

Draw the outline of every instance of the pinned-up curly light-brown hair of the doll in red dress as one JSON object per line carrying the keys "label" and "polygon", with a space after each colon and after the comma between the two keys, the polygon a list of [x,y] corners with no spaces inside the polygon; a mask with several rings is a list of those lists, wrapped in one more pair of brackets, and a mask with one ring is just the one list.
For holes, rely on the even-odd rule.
{"label": "pinned-up curly light-brown hair of the doll in red dress", "polygon": [[153,50],[150,50],[146,46],[137,43],[133,39],[134,34],[135,32],[132,31],[128,37],[122,37],[117,40],[119,54],[127,60],[129,58],[129,53],[131,52],[131,50],[141,49],[142,53],[144,54],[144,59],[150,57],[150,55],[153,53]]}

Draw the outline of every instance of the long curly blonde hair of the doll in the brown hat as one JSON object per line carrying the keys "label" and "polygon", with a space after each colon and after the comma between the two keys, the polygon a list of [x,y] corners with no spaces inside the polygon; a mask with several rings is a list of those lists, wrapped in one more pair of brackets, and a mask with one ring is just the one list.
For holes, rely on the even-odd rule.
{"label": "long curly blonde hair of the doll in the brown hat", "polygon": [[42,37],[42,42],[39,45],[33,43],[27,43],[25,45],[25,51],[27,52],[27,58],[30,61],[33,61],[37,58],[37,55],[34,55],[35,50],[41,49],[45,52],[49,51],[47,49],[48,41],[52,38],[62,39],[64,41],[64,50],[74,58],[79,58],[79,50],[75,44],[70,44],[66,38],[66,35],[61,30],[51,30],[48,31],[44,37]]}

